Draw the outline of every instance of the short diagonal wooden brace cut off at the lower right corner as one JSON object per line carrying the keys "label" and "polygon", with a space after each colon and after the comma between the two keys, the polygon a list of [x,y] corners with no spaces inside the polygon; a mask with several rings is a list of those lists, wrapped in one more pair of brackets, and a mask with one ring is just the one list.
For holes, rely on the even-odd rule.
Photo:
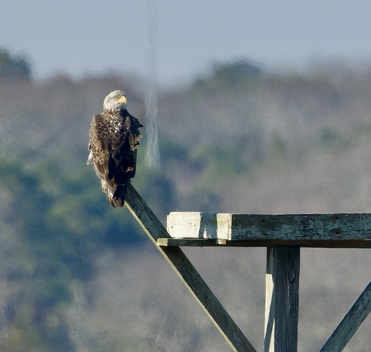
{"label": "short diagonal wooden brace cut off at the lower right corner", "polygon": [[371,282],[353,304],[320,352],[340,352],[371,311]]}

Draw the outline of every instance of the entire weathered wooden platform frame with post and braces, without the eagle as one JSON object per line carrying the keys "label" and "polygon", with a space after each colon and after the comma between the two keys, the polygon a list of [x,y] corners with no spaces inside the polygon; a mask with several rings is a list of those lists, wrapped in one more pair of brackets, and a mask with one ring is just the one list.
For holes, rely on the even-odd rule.
{"label": "entire weathered wooden platform frame with post and braces, without the eagle", "polygon": [[[371,248],[371,214],[188,213],[187,233],[196,232],[192,238],[174,238],[177,229],[171,229],[172,237],[131,184],[125,205],[235,352],[256,350],[180,245],[267,247],[264,352],[297,352],[300,247]],[[320,352],[342,351],[370,311],[371,282]]]}

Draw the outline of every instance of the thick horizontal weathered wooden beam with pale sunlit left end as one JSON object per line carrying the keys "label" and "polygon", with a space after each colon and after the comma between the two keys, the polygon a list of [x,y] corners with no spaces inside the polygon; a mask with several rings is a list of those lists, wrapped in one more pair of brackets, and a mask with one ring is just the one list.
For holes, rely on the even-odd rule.
{"label": "thick horizontal weathered wooden beam with pale sunlit left end", "polygon": [[229,240],[371,239],[371,213],[233,214],[172,212],[171,237]]}

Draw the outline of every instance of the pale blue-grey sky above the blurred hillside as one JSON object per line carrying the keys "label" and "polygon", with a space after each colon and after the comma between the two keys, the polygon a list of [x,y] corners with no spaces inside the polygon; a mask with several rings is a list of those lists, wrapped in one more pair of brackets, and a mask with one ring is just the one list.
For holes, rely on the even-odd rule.
{"label": "pale blue-grey sky above the blurred hillside", "polygon": [[[0,46],[27,54],[37,77],[109,68],[144,74],[147,8],[148,0],[3,0]],[[191,78],[213,60],[371,62],[368,0],[157,0],[157,20],[163,83]]]}

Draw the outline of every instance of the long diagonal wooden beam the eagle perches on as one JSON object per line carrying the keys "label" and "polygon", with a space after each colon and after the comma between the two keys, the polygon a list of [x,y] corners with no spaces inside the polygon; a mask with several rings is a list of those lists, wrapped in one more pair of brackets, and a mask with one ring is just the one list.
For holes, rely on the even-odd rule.
{"label": "long diagonal wooden beam the eagle perches on", "polygon": [[170,235],[131,184],[128,185],[125,205],[210,317],[233,351],[256,352],[183,251],[176,246],[157,246],[158,238],[170,238]]}

